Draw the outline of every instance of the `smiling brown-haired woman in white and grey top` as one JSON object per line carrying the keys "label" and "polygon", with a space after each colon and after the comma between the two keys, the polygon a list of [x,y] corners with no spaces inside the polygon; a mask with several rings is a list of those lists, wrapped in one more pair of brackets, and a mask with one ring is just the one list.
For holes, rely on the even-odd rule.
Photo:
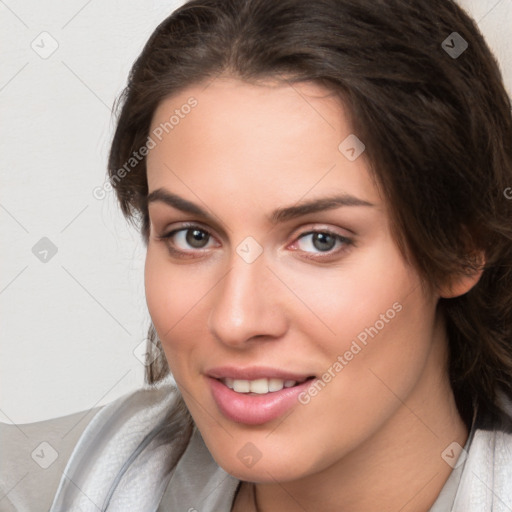
{"label": "smiling brown-haired woman in white and grey top", "polygon": [[450,0],[175,11],[109,158],[148,386],[51,511],[509,510],[510,107]]}

